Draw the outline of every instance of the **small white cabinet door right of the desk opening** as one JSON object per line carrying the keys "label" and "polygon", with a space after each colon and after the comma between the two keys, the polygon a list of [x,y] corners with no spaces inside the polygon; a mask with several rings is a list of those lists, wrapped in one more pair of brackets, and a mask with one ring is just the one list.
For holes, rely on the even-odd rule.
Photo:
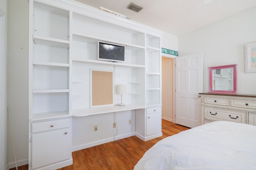
{"label": "small white cabinet door right of the desk opening", "polygon": [[147,114],[146,117],[146,135],[154,135],[156,133],[161,133],[162,122],[161,122],[161,112]]}

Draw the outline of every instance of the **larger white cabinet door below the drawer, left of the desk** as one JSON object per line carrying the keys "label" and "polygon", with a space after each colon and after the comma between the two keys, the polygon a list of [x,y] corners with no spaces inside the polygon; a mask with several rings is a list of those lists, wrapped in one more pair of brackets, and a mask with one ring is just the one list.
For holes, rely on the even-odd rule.
{"label": "larger white cabinet door below the drawer, left of the desk", "polygon": [[70,129],[32,135],[32,169],[66,160],[70,156]]}

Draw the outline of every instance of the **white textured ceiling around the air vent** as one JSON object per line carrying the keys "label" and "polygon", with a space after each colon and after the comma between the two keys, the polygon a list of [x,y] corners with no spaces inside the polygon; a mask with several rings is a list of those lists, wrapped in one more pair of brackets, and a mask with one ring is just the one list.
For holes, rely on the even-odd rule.
{"label": "white textured ceiling around the air vent", "polygon": [[[99,9],[120,13],[130,20],[183,35],[200,27],[256,6],[256,0],[76,0]],[[212,1],[204,4],[204,1]],[[126,7],[133,2],[143,9],[137,13]]]}

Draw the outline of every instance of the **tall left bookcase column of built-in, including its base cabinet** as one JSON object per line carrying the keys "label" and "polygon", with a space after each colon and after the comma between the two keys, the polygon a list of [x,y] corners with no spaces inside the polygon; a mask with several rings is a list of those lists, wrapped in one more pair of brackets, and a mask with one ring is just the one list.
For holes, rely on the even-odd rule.
{"label": "tall left bookcase column of built-in, including its base cabinet", "polygon": [[30,0],[29,169],[72,164],[69,25],[69,10]]}

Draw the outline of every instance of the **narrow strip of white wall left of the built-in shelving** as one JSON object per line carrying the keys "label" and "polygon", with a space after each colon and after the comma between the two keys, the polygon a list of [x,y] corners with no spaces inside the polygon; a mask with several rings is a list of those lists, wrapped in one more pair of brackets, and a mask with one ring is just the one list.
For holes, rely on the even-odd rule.
{"label": "narrow strip of white wall left of the built-in shelving", "polygon": [[[8,0],[8,107],[18,166],[28,164],[28,0]],[[8,163],[15,167],[9,124]]]}

